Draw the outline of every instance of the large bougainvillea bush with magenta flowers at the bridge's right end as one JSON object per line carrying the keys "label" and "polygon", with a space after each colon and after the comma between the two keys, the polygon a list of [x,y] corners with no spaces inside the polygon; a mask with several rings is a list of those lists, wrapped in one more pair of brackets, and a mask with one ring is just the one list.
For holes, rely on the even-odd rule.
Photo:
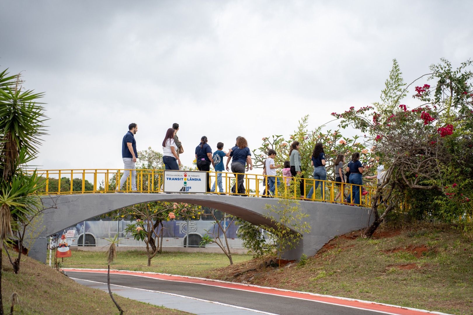
{"label": "large bougainvillea bush with magenta flowers at the bridge's right end", "polygon": [[[471,61],[454,69],[442,59],[429,69],[406,85],[394,60],[381,102],[332,114],[340,119],[340,127],[351,126],[367,135],[365,145],[372,145],[387,170],[386,180],[377,189],[387,206],[379,215],[376,198],[376,220],[366,236],[401,204],[403,210],[422,219],[458,221],[473,215],[473,188],[468,185],[473,175]],[[415,93],[409,98],[411,87]]]}

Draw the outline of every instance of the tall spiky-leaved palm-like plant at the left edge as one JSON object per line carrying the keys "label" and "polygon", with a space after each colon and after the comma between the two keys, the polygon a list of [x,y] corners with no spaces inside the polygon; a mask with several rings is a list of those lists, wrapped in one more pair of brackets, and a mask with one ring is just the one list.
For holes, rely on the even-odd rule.
{"label": "tall spiky-leaved palm-like plant at the left edge", "polygon": [[[36,174],[26,175],[26,163],[38,154],[40,137],[45,134],[44,109],[35,102],[43,93],[23,91],[20,75],[0,72],[0,243],[18,226],[38,213],[41,203],[31,196],[41,185]],[[1,292],[0,255],[0,292]],[[3,303],[0,294],[0,315]]]}

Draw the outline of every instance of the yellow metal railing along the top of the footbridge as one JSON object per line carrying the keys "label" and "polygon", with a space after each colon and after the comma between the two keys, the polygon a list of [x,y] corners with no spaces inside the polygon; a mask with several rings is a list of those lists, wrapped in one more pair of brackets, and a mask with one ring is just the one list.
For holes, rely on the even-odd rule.
{"label": "yellow metal railing along the top of the footbridge", "polygon": [[[37,193],[40,195],[69,195],[69,194],[98,194],[98,193],[114,193],[117,191],[120,178],[124,171],[131,170],[119,170],[119,169],[85,169],[85,170],[37,170],[36,175],[45,179],[44,187],[38,189]],[[162,193],[163,192],[163,170],[134,170],[136,171],[136,187],[137,192],[140,193]],[[33,171],[29,171],[33,173]],[[252,197],[270,197],[269,195],[269,184],[267,175],[258,174],[239,174],[231,172],[208,172],[210,182],[215,181],[215,192],[210,194],[227,194],[227,195],[245,195]],[[217,175],[222,174],[222,185],[224,192],[219,191],[217,185]],[[231,188],[236,184],[236,176],[244,176],[245,193],[238,194],[233,193]],[[336,182],[330,180],[317,180],[317,179],[306,179],[306,178],[288,178],[282,176],[273,176],[279,179],[280,185],[275,185],[274,196],[290,196],[294,199],[304,199],[312,201],[324,201],[324,202],[338,202],[340,198],[335,200],[335,196],[341,191],[344,192],[342,203],[343,204],[355,204],[355,196],[351,194],[351,187],[359,187],[359,204],[371,206],[371,196],[375,195],[376,187],[367,185],[354,185],[341,183],[340,186],[336,186]],[[118,179],[118,180],[117,180]],[[294,185],[293,181],[297,182]],[[299,182],[303,181],[304,187],[306,188],[306,196],[309,193],[310,188],[313,188],[313,195],[310,199],[301,198],[298,194],[297,189]],[[287,181],[292,185],[288,185]],[[318,182],[317,188],[315,188],[316,182]],[[276,181],[277,183],[277,181]],[[340,183],[338,183],[340,184]],[[323,186],[322,196],[320,193],[320,185]],[[212,186],[210,184],[210,186]],[[131,177],[128,176],[125,184],[121,187],[122,192],[132,192],[131,190]],[[263,194],[265,192],[265,194]],[[365,192],[365,193],[363,193]],[[348,198],[348,203],[344,202],[343,199]]]}

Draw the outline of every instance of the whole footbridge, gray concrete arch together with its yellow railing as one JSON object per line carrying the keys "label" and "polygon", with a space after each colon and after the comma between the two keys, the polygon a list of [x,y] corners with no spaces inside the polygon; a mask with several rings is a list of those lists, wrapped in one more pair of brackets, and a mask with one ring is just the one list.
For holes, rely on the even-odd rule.
{"label": "whole footbridge, gray concrete arch together with its yellow railing", "polygon": [[[253,224],[274,226],[271,220],[264,217],[264,214],[268,212],[268,210],[265,209],[265,205],[276,205],[278,198],[259,198],[262,196],[262,192],[260,192],[260,190],[262,190],[261,188],[265,188],[265,186],[259,183],[260,180],[265,179],[263,175],[240,174],[240,176],[245,177],[245,189],[249,196],[235,196],[236,194],[232,193],[163,193],[161,187],[163,175],[159,173],[159,170],[146,170],[146,174],[150,174],[151,171],[153,172],[150,176],[147,175],[144,177],[148,178],[146,182],[142,179],[143,177],[140,179],[140,172],[142,176],[144,170],[138,170],[137,187],[139,187],[139,189],[133,193],[126,193],[131,190],[131,183],[129,181],[127,182],[127,186],[129,185],[127,188],[130,189],[125,189],[125,193],[115,193],[115,187],[112,186],[112,189],[109,189],[110,185],[106,185],[106,187],[102,186],[102,190],[97,190],[98,180],[100,179],[99,175],[105,175],[107,179],[106,182],[109,183],[114,174],[118,176],[121,175],[120,172],[123,172],[123,170],[102,171],[103,170],[39,171],[40,175],[42,175],[47,182],[46,187],[38,191],[44,208],[46,209],[44,211],[42,224],[45,228],[41,231],[35,231],[34,235],[36,235],[36,240],[33,247],[29,249],[30,257],[46,262],[46,248],[49,236],[77,224],[80,221],[144,202],[167,201],[197,204],[221,210]],[[207,176],[209,177],[216,175],[212,174],[214,172],[208,173]],[[64,174],[69,175],[69,182],[67,181],[67,177],[61,177],[61,175]],[[76,174],[80,175],[81,178],[74,178]],[[228,184],[231,183],[230,176],[233,177],[233,174],[224,174],[226,174],[224,182],[226,183],[225,187],[227,189],[230,187],[227,185],[227,182]],[[57,179],[54,179],[54,176],[57,177]],[[88,177],[93,178],[93,183],[87,180]],[[283,178],[281,179],[285,180]],[[155,181],[154,184],[151,183],[152,180]],[[300,180],[304,180],[307,187],[310,187],[311,184],[315,186],[313,179]],[[57,185],[53,185],[54,181],[57,182]],[[64,185],[61,185],[61,181],[67,184],[66,189],[64,189]],[[335,236],[365,228],[373,221],[369,208],[370,187],[364,188],[368,191],[368,194],[364,196],[361,196],[360,189],[359,200],[361,200],[361,206],[349,206],[347,204],[334,203],[333,196],[336,195],[336,186],[333,182],[320,182],[322,182],[324,187],[321,193],[323,196],[318,195],[315,197],[314,194],[312,198],[313,201],[299,201],[299,206],[302,208],[302,211],[309,214],[306,221],[311,226],[311,232],[303,235],[302,240],[295,249],[283,254],[285,259],[298,259],[302,254],[307,256],[315,255],[324,244]],[[256,188],[253,193],[251,193],[249,188],[252,185]],[[87,190],[88,186],[93,187],[89,187],[90,190]],[[287,188],[281,185],[280,193],[282,189]],[[226,191],[230,191],[230,189]],[[276,194],[278,195],[277,190]],[[351,198],[353,199],[353,196]],[[300,197],[295,197],[295,199],[300,199]],[[317,200],[324,200],[324,202]],[[296,231],[293,232],[296,233]]]}

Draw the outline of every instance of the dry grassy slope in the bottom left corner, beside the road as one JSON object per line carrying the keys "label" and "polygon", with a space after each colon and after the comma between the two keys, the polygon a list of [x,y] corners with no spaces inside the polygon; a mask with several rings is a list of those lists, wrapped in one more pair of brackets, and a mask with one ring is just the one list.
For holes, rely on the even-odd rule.
{"label": "dry grassy slope in the bottom left corner, beside the road", "polygon": [[[10,312],[11,293],[18,293],[14,314],[118,314],[107,292],[82,286],[49,266],[26,257],[20,273],[14,274],[3,255],[2,298],[5,314]],[[189,314],[115,296],[124,314]]]}

